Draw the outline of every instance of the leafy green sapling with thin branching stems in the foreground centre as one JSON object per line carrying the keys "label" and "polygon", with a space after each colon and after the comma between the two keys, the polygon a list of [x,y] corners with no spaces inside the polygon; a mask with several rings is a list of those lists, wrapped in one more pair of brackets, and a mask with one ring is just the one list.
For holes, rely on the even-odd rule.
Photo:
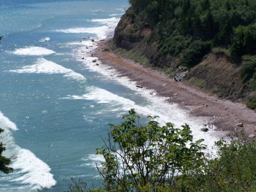
{"label": "leafy green sapling with thin branching stems in the foreground centre", "polygon": [[148,186],[157,191],[172,186],[175,176],[203,164],[206,146],[201,144],[203,140],[193,143],[189,125],[179,129],[168,122],[160,127],[155,120],[158,116],[148,116],[150,120],[143,126],[134,109],[124,118],[120,125],[110,124],[105,145],[96,149],[105,159],[97,169],[107,191],[140,191]]}

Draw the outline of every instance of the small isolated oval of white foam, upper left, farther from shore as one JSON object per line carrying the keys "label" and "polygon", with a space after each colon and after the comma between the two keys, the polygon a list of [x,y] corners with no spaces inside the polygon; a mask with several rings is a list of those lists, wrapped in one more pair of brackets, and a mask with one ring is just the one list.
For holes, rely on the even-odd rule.
{"label": "small isolated oval of white foam, upper left, farther from shore", "polygon": [[14,52],[12,52],[15,55],[35,55],[35,56],[41,56],[41,55],[51,55],[56,52],[46,49],[44,47],[25,47],[25,48],[19,48],[16,49]]}

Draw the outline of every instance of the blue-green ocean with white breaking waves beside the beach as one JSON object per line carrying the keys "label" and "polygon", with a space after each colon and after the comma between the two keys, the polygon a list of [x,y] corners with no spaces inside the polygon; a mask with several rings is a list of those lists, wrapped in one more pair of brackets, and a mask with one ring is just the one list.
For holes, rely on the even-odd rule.
{"label": "blue-green ocean with white breaking waves beside the beach", "polygon": [[100,186],[95,148],[108,123],[119,124],[131,108],[144,122],[158,115],[161,125],[189,124],[209,146],[217,140],[200,131],[204,117],[93,62],[96,41],[113,35],[128,7],[127,0],[0,1],[1,141],[14,168],[0,174],[0,192],[64,191],[70,177]]}

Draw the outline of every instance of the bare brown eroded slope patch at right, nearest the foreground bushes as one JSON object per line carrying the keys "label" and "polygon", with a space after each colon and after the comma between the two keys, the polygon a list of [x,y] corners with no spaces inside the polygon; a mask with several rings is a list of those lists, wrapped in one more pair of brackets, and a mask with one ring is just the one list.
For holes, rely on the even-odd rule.
{"label": "bare brown eroded slope patch at right, nearest the foreground bushes", "polygon": [[231,63],[224,54],[209,54],[204,61],[190,69],[184,80],[189,84],[194,81],[196,86],[207,93],[240,102],[248,91],[244,89],[238,73],[240,67],[240,63]]}

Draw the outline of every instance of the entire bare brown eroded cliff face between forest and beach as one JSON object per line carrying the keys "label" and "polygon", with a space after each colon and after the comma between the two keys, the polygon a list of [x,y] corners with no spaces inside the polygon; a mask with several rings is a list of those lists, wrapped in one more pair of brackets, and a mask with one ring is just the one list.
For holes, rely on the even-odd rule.
{"label": "entire bare brown eroded cliff face between forest and beach", "polygon": [[[145,56],[153,67],[169,68],[170,78],[188,70],[179,67],[178,59],[171,55],[159,57],[158,42],[148,43],[150,35],[152,35],[151,29],[148,25],[125,14],[115,29],[113,42],[118,48]],[[242,63],[229,60],[221,52],[211,53],[200,64],[189,69],[182,81],[220,98],[231,99],[233,102],[246,102],[249,90],[239,75]]]}

